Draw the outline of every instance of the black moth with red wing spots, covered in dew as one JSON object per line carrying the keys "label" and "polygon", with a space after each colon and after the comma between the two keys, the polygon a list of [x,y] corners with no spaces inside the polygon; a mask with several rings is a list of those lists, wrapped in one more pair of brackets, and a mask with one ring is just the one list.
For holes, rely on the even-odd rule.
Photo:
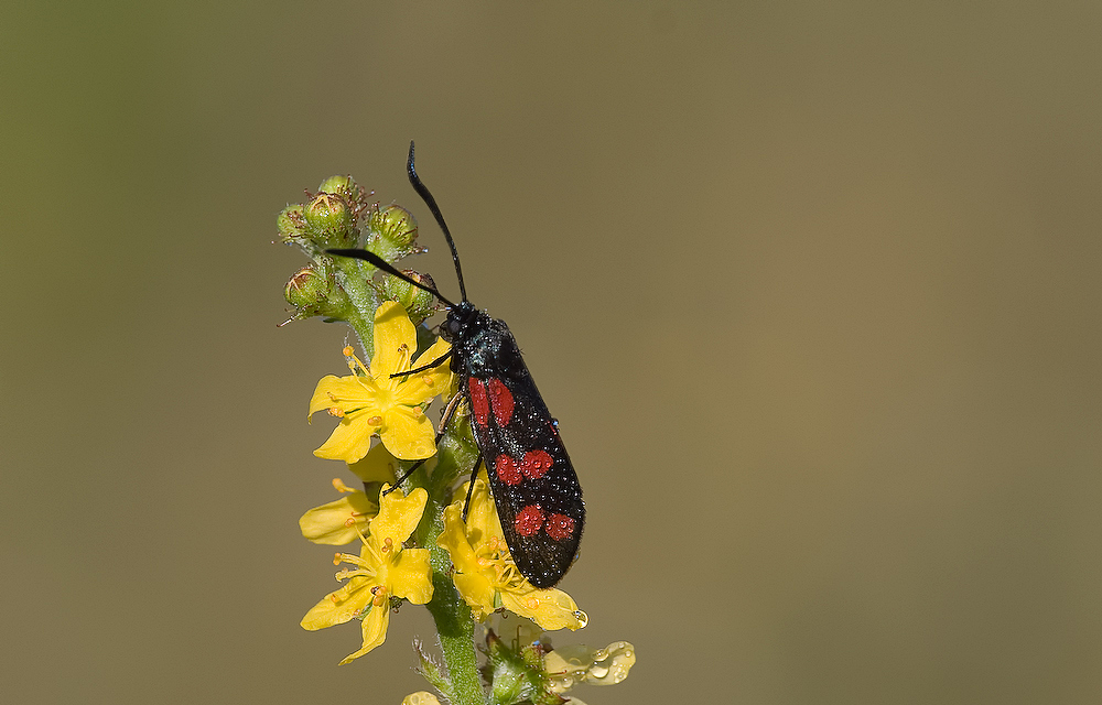
{"label": "black moth with red wing spots, covered in dew", "polygon": [[[440,335],[451,343],[452,349],[429,365],[402,375],[431,369],[451,359],[452,371],[460,376],[462,393],[471,405],[479,459],[487,468],[509,552],[521,574],[532,585],[551,587],[570,568],[585,524],[585,505],[577,475],[509,327],[467,301],[455,242],[436,200],[413,169],[412,142],[407,171],[410,183],[432,210],[452,249],[463,300],[457,304],[450,302],[435,289],[410,279],[374,252],[327,251],[366,260],[428,291],[447,306],[447,318],[440,326]],[[446,416],[441,430],[447,425],[451,414]],[[439,436],[436,441],[440,441]],[[410,468],[396,486],[421,463],[423,460]],[[476,462],[472,473],[472,488],[478,465]]]}

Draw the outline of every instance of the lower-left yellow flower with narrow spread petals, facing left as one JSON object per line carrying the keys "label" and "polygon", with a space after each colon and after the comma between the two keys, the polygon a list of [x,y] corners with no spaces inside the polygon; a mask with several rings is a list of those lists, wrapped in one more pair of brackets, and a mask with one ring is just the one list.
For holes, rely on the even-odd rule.
{"label": "lower-left yellow flower with narrow spread petals, facing left", "polygon": [[428,497],[420,487],[409,497],[401,490],[383,496],[379,514],[370,522],[370,534],[364,539],[359,555],[338,553],[334,558],[335,564],[355,566],[336,575],[338,581],[348,582],[322,598],[302,618],[302,627],[311,631],[343,625],[354,618],[363,622],[364,646],[348,654],[341,665],[386,640],[391,597],[404,598],[414,605],[432,599],[429,550],[402,546],[421,521]]}

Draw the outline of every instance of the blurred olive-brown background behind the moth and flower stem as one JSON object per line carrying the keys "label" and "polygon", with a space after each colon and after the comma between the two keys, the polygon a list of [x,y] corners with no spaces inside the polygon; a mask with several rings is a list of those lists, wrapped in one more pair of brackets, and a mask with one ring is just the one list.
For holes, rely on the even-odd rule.
{"label": "blurred olive-brown background behind the moth and flower stem", "polygon": [[[274,218],[411,206],[585,488],[591,705],[1095,703],[1096,3],[35,2],[0,23],[8,703],[392,703],[296,519]],[[435,417],[435,414],[433,414]]]}

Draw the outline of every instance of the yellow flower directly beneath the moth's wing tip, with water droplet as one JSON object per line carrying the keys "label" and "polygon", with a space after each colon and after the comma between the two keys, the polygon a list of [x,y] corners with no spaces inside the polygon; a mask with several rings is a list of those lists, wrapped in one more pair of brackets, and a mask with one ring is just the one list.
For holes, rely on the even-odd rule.
{"label": "yellow flower directly beneath the moth's wing tip, with water droplet", "polygon": [[444,531],[436,540],[447,549],[455,565],[455,587],[479,619],[499,608],[532,619],[543,629],[581,629],[587,617],[570,595],[533,587],[517,570],[501,533],[494,498],[486,486],[485,470],[475,480],[467,523],[463,523],[463,499],[444,509]]}

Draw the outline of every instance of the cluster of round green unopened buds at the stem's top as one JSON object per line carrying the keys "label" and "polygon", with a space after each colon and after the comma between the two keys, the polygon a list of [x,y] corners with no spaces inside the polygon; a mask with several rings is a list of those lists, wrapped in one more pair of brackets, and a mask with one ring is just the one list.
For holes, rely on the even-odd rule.
{"label": "cluster of round green unopened buds at the stem's top", "polygon": [[[310,194],[307,194],[310,195]],[[277,219],[280,239],[299,247],[313,262],[295,272],[283,290],[293,308],[289,321],[322,316],[348,321],[370,316],[383,301],[397,301],[414,325],[436,312],[432,294],[398,278],[382,274],[367,262],[333,258],[327,249],[361,248],[388,262],[423,252],[417,245],[417,219],[398,205],[371,202],[350,176],[331,176],[303,204],[290,205]],[[432,285],[428,274],[403,270],[417,281]]]}

